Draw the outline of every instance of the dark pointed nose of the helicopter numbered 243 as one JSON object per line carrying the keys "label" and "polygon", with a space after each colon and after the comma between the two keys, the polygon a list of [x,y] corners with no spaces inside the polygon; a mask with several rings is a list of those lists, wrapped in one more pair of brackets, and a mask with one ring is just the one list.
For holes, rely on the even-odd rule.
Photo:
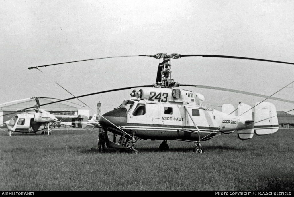
{"label": "dark pointed nose of the helicopter numbered 243", "polygon": [[108,111],[102,116],[99,118],[99,124],[103,128],[116,128],[116,126],[123,126],[127,123],[127,112],[124,108]]}

